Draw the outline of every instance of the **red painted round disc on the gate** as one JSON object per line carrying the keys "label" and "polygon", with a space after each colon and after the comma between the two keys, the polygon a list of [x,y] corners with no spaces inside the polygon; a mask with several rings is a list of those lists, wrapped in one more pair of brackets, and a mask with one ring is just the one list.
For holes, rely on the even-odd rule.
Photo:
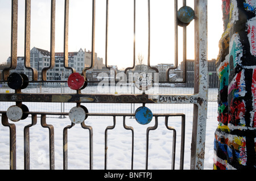
{"label": "red painted round disc on the gate", "polygon": [[68,77],[68,87],[73,90],[79,90],[84,86],[84,76],[80,73],[72,73]]}

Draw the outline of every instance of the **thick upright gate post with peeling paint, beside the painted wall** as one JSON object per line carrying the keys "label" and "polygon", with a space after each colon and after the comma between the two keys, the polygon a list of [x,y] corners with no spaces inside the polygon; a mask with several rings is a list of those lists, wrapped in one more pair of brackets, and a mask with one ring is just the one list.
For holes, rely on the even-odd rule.
{"label": "thick upright gate post with peeling paint, beside the painted wall", "polygon": [[207,121],[207,0],[195,0],[195,94],[202,104],[194,104],[191,144],[191,169],[204,169],[205,128]]}

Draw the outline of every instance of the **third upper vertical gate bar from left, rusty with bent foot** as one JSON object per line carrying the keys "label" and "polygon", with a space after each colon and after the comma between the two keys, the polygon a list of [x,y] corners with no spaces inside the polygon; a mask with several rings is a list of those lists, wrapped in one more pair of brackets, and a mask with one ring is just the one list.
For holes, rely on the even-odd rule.
{"label": "third upper vertical gate bar from left, rusty with bent foot", "polygon": [[51,0],[51,52],[49,66],[42,70],[42,81],[47,81],[47,70],[53,69],[55,65],[55,10],[56,0]]}

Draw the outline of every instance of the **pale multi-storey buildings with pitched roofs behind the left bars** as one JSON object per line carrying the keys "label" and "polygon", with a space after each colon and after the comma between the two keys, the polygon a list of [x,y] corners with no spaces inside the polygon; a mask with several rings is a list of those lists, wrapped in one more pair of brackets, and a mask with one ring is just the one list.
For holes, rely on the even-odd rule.
{"label": "pale multi-storey buildings with pitched roofs behind the left bars", "polygon": [[[85,67],[90,66],[92,58],[92,52],[85,52],[80,48],[78,52],[69,52],[68,53],[68,66],[72,67],[78,73],[82,73],[82,70]],[[97,53],[94,54],[94,69],[102,69],[105,65],[103,64],[103,59],[97,57]],[[11,58],[7,59],[7,65],[10,64]],[[48,50],[40,48],[32,48],[30,50],[30,66],[38,70],[38,79],[42,79],[41,71],[43,68],[48,67],[50,64],[50,52]],[[30,79],[32,77],[32,71],[24,68],[24,57],[18,57],[17,67],[15,70],[17,73],[24,73]],[[57,80],[67,80],[71,70],[64,68],[64,53],[56,52],[55,53],[55,66],[53,69],[47,71],[47,80],[48,81],[57,81]]]}

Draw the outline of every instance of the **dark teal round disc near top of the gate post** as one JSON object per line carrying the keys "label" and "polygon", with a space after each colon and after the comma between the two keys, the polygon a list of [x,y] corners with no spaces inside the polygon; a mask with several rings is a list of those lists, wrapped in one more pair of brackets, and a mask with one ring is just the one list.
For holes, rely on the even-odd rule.
{"label": "dark teal round disc near top of the gate post", "polygon": [[189,6],[183,6],[177,11],[177,18],[182,23],[190,23],[195,18],[195,11]]}

